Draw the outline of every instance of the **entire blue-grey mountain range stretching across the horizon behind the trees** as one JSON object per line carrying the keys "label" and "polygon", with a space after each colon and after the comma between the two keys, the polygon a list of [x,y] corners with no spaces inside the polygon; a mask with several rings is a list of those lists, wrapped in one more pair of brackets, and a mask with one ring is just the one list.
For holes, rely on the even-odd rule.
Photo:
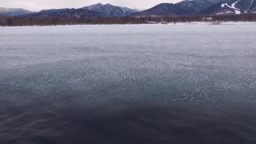
{"label": "entire blue-grey mountain range stretching across the horizon behind the trees", "polygon": [[256,0],[183,0],[179,3],[160,3],[144,11],[111,4],[97,3],[82,8],[50,9],[39,12],[21,8],[0,8],[6,16],[58,17],[123,17],[123,16],[184,16],[256,13]]}

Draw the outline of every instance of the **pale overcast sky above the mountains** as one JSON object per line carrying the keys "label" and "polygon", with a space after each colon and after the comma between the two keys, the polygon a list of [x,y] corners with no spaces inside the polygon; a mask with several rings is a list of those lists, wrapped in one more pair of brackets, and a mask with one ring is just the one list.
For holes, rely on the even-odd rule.
{"label": "pale overcast sky above the mountains", "polygon": [[24,8],[30,11],[40,11],[51,8],[81,8],[85,5],[95,3],[117,6],[127,6],[129,8],[147,9],[159,3],[177,3],[181,0],[0,0],[0,7]]}

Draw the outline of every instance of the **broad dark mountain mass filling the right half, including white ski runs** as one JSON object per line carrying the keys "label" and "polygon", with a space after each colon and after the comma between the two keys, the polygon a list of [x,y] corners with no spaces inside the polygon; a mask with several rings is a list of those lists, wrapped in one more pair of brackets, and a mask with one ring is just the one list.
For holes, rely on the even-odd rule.
{"label": "broad dark mountain mass filling the right half, including white ski runs", "polygon": [[214,15],[256,13],[256,0],[183,0],[161,3],[131,16]]}

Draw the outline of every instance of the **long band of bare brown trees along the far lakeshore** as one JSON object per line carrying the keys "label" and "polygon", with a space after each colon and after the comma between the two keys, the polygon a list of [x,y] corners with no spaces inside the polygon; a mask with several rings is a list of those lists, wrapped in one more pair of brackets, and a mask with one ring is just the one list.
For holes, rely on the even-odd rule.
{"label": "long band of bare brown trees along the far lakeshore", "polygon": [[152,22],[195,22],[203,17],[211,17],[213,21],[256,21],[256,13],[240,15],[214,16],[161,16],[161,17],[9,17],[0,16],[0,26],[49,26],[49,25],[76,25],[76,24],[146,24]]}

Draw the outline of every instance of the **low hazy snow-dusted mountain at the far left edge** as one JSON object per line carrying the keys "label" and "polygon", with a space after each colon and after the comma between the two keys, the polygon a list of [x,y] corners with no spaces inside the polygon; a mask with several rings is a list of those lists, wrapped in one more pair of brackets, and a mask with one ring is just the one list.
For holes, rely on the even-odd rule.
{"label": "low hazy snow-dusted mountain at the far left edge", "polygon": [[35,13],[22,8],[0,8],[0,15],[5,16],[26,16],[29,13]]}

